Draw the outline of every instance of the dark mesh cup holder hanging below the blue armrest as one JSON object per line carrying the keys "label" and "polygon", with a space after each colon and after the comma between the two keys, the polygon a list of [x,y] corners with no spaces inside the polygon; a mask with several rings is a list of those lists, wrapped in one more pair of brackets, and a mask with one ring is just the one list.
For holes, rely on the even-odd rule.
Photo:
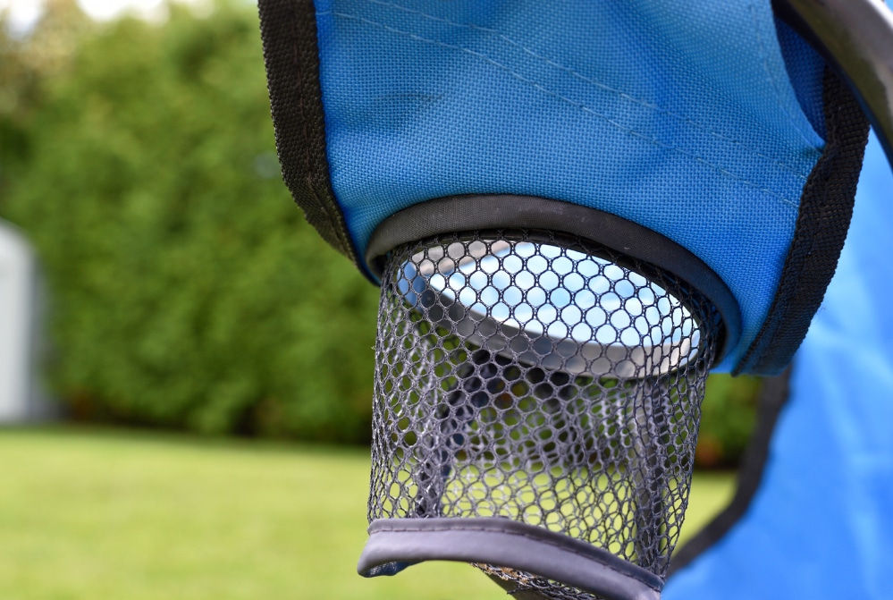
{"label": "dark mesh cup holder hanging below the blue armrest", "polygon": [[361,572],[459,560],[518,597],[659,597],[720,325],[672,275],[578,238],[392,250]]}

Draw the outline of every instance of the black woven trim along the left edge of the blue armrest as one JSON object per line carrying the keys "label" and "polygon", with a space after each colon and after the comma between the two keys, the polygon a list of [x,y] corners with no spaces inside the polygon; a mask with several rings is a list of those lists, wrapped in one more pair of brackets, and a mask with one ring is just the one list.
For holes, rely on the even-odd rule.
{"label": "black woven trim along the left edge of the blue armrest", "polygon": [[316,8],[312,0],[260,0],[257,7],[282,179],[307,222],[359,266],[329,179]]}

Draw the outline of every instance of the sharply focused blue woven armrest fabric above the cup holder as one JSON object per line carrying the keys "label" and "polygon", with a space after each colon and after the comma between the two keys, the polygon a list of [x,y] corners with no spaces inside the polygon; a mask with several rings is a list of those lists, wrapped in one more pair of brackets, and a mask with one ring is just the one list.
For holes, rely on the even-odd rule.
{"label": "sharply focused blue woven armrest fabric above the cup holder", "polygon": [[661,232],[759,331],[822,139],[769,0],[317,0],[333,190],[360,256],[427,199],[513,193]]}

